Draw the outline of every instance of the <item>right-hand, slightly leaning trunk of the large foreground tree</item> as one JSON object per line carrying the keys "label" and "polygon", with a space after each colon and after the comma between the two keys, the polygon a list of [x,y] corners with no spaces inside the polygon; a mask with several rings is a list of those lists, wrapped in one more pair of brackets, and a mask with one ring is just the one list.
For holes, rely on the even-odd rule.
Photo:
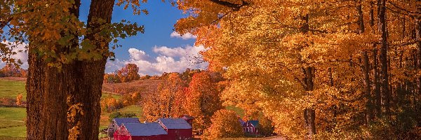
{"label": "right-hand, slightly leaning trunk of the large foreground tree", "polygon": [[[109,42],[107,41],[109,35],[106,34],[99,38],[95,37],[95,35],[102,31],[100,29],[102,24],[111,23],[113,7],[114,1],[91,1],[87,28],[91,29],[92,32],[86,35],[86,39],[89,39],[95,45],[95,49],[91,50],[91,52],[101,53],[101,50],[108,50],[109,48]],[[98,24],[98,22],[95,22],[98,19],[105,22]],[[78,77],[76,78],[76,94],[74,94],[72,102],[73,104],[82,104],[84,114],[78,114],[76,121],[79,121],[79,124],[72,123],[71,127],[78,125],[80,128],[79,139],[98,139],[101,114],[100,98],[106,62],[107,57],[98,60],[76,61],[76,76]]]}

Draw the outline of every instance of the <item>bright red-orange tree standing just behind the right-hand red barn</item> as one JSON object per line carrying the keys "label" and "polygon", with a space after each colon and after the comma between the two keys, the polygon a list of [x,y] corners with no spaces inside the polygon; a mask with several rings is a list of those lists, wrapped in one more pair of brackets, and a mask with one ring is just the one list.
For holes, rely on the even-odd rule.
{"label": "bright red-orange tree standing just behind the right-hand red barn", "polygon": [[209,127],[210,117],[222,109],[220,90],[208,71],[194,73],[185,96],[184,108],[189,116],[194,116],[195,129]]}

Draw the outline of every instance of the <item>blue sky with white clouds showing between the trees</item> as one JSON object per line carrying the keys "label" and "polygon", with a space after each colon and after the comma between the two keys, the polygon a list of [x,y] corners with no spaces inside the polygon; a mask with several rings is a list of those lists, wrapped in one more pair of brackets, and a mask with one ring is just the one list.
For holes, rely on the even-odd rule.
{"label": "blue sky with white clouds showing between the trees", "polygon": [[[91,1],[82,0],[80,20],[86,22]],[[116,61],[107,62],[106,73],[116,71],[128,63],[137,64],[141,75],[160,75],[163,72],[181,72],[186,68],[206,69],[207,64],[194,64],[192,57],[198,57],[203,47],[193,47],[195,36],[187,34],[180,36],[173,32],[178,19],[185,17],[182,10],[172,6],[168,1],[149,0],[141,3],[141,8],[149,11],[148,15],[133,15],[133,10],[123,9],[123,6],[114,6],[112,22],[126,20],[137,22],[145,26],[145,34],[138,34],[124,40],[116,48]],[[129,6],[130,7],[130,6]],[[20,47],[23,48],[23,47]],[[27,55],[18,53],[18,59],[25,62],[22,67],[27,68]],[[0,67],[2,62],[0,62]]]}

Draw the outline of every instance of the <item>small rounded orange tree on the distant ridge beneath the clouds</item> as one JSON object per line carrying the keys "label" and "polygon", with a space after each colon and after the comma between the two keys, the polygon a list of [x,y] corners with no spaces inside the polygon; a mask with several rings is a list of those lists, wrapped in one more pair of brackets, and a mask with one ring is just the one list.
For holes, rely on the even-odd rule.
{"label": "small rounded orange tree on the distant ridge beneath the clouds", "polygon": [[117,75],[121,82],[126,83],[132,80],[139,80],[139,68],[136,64],[126,64],[123,68],[117,71]]}

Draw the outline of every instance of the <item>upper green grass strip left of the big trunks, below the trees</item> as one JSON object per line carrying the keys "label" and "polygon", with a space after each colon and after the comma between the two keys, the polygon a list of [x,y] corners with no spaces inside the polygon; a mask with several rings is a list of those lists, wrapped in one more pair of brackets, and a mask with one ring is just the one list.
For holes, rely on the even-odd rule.
{"label": "upper green grass strip left of the big trunks, below the trees", "polygon": [[25,82],[0,79],[0,98],[16,99],[18,94],[22,94],[22,100],[26,101]]}

